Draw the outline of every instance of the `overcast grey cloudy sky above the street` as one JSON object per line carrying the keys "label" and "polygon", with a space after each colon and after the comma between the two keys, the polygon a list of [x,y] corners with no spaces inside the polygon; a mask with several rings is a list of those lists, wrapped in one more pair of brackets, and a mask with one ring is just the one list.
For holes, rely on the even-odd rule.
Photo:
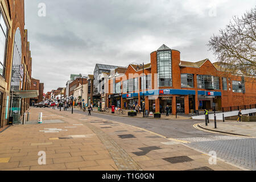
{"label": "overcast grey cloudy sky above the street", "polygon": [[216,62],[207,43],[256,0],[25,0],[32,77],[44,93],[99,64],[150,63],[166,44],[183,61]]}

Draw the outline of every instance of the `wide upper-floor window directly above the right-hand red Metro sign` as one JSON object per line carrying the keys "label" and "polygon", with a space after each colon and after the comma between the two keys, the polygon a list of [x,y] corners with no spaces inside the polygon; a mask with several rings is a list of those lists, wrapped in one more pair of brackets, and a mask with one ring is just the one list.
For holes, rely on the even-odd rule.
{"label": "wide upper-floor window directly above the right-hand red Metro sign", "polygon": [[197,87],[202,89],[220,89],[219,78],[210,75],[197,75]]}

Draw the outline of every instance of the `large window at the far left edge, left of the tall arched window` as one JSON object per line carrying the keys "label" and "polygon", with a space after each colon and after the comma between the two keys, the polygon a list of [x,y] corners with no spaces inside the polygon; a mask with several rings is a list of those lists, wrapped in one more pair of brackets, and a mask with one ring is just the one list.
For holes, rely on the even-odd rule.
{"label": "large window at the far left edge, left of the tall arched window", "polygon": [[6,47],[7,47],[7,33],[8,28],[3,19],[2,11],[0,11],[0,75],[5,77],[5,56],[6,56]]}

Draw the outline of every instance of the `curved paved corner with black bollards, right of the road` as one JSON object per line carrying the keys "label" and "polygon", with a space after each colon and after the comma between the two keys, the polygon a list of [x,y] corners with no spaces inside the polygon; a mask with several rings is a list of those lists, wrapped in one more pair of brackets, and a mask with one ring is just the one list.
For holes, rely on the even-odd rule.
{"label": "curved paved corner with black bollards, right of the road", "polygon": [[205,126],[205,123],[200,123],[199,125],[212,131],[256,137],[256,122],[217,122],[217,129],[214,129],[214,122],[208,123],[208,126]]}

